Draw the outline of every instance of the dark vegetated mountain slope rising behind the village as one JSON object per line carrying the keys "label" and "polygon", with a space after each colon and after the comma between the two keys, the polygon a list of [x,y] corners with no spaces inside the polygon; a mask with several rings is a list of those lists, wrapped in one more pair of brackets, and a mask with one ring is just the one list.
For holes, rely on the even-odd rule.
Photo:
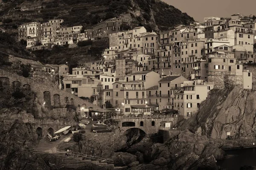
{"label": "dark vegetated mountain slope rising behind the village", "polygon": [[[47,22],[55,18],[64,19],[67,26],[91,28],[101,20],[124,15],[132,19],[133,26],[163,31],[194,21],[160,0],[2,0],[0,8],[3,24],[9,28],[17,28],[24,22]],[[24,8],[28,10],[22,12],[20,9]]]}

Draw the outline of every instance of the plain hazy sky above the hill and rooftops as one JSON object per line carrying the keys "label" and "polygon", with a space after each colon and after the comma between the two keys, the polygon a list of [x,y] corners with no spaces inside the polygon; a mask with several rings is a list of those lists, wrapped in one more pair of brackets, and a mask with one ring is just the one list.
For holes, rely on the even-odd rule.
{"label": "plain hazy sky above the hill and rooftops", "polygon": [[230,17],[232,14],[256,15],[256,0],[162,0],[186,12],[194,20],[204,17]]}

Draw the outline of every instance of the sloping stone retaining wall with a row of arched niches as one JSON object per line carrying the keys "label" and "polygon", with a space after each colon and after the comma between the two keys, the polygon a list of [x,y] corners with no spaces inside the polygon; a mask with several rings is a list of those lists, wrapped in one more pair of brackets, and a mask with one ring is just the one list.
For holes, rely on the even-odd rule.
{"label": "sloping stone retaining wall with a row of arched niches", "polygon": [[38,101],[45,107],[53,106],[55,108],[64,108],[67,104],[74,105],[76,107],[84,108],[99,108],[98,106],[91,104],[69,92],[61,89],[56,89],[51,84],[44,84],[35,82],[31,78],[24,78],[22,76],[12,74],[0,69],[0,83],[3,86],[23,87],[25,89],[31,89],[36,92]]}

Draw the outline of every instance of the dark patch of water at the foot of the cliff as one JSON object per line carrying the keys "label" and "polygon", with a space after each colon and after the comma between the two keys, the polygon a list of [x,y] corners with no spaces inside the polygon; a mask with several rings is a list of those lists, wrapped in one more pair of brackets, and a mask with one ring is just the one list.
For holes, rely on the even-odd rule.
{"label": "dark patch of water at the foot of the cliff", "polygon": [[227,170],[239,170],[241,166],[256,167],[256,148],[227,150],[227,158],[217,161],[217,165]]}

